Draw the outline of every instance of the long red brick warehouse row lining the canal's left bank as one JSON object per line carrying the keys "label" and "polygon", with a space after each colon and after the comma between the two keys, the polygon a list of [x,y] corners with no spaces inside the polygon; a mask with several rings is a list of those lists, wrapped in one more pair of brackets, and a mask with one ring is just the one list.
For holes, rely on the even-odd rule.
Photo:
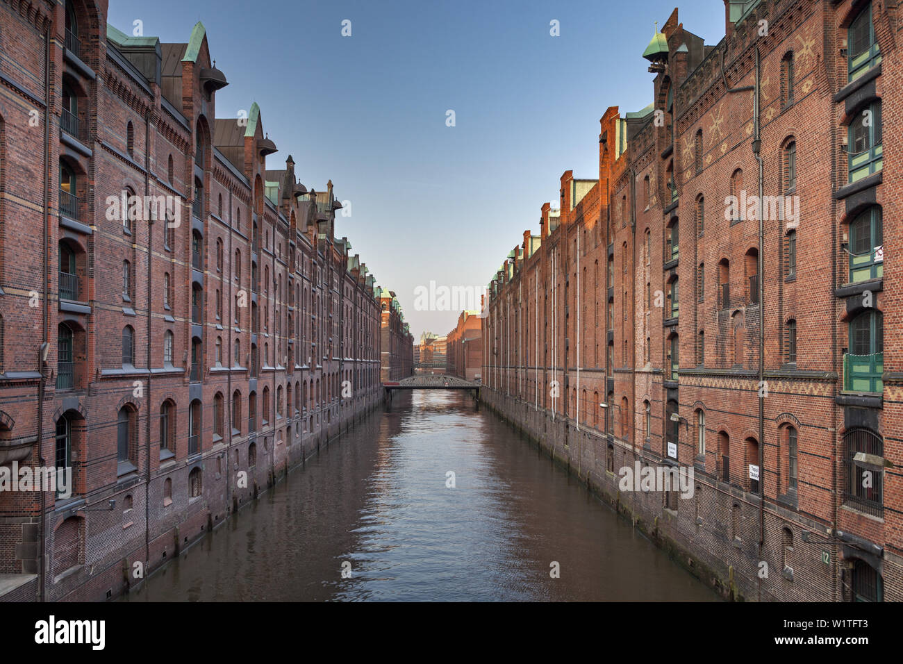
{"label": "long red brick warehouse row lining the canal's left bank", "polygon": [[162,43],[106,19],[0,6],[0,479],[73,475],[0,491],[4,600],[119,594],[382,399],[331,182],[265,169],[256,104],[216,116],[201,23]]}

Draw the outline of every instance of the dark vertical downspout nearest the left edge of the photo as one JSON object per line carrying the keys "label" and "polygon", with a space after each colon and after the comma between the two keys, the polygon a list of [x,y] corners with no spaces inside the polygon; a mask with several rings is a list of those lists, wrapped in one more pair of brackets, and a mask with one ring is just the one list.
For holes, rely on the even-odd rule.
{"label": "dark vertical downspout nearest the left edge of the photo", "polygon": [[[38,458],[43,467],[47,466],[47,462],[42,454],[42,444],[44,437],[44,362],[42,358],[42,348],[47,341],[47,326],[50,312],[48,310],[47,298],[49,297],[47,289],[47,239],[48,224],[50,224],[50,169],[51,169],[51,23],[47,22],[44,28],[44,192],[43,192],[43,208],[44,223],[43,226],[43,327],[42,327],[42,345],[38,349],[38,373],[41,378],[38,379]],[[47,544],[47,497],[44,491],[41,493],[41,551],[39,572],[41,579],[38,584],[39,599],[41,602],[46,601],[46,584],[44,581],[44,556],[46,555]]]}

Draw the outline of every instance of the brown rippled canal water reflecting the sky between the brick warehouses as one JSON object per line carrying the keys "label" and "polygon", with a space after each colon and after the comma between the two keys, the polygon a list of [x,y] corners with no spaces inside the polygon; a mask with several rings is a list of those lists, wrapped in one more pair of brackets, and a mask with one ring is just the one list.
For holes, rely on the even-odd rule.
{"label": "brown rippled canal water reflecting the sky between the brick warehouses", "polygon": [[124,599],[718,600],[466,393],[393,401]]}

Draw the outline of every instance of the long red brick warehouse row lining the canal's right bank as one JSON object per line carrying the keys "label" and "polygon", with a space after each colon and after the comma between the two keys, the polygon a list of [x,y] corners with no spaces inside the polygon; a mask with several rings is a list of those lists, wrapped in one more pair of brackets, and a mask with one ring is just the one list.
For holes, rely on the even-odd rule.
{"label": "long red brick warehouse row lining the canal's right bank", "polygon": [[675,9],[653,103],[606,111],[598,179],[493,277],[483,398],[723,594],[899,601],[903,15],[723,9],[716,45]]}

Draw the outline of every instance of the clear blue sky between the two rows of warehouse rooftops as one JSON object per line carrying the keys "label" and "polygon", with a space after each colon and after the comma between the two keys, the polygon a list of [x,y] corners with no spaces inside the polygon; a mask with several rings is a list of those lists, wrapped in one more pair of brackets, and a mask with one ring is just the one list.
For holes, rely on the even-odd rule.
{"label": "clear blue sky between the two rows of warehouse rooftops", "polygon": [[[307,187],[351,201],[336,234],[394,290],[419,337],[457,312],[414,310],[414,289],[485,286],[561,174],[596,178],[599,119],[652,100],[642,52],[675,0],[442,2],[110,0],[108,20],[187,42],[199,19],[226,74],[219,117],[256,101],[265,131]],[[680,7],[706,43],[724,33],[722,0]],[[341,22],[351,21],[351,36]],[[549,34],[559,21],[561,35]],[[446,110],[456,126],[445,125]]]}

